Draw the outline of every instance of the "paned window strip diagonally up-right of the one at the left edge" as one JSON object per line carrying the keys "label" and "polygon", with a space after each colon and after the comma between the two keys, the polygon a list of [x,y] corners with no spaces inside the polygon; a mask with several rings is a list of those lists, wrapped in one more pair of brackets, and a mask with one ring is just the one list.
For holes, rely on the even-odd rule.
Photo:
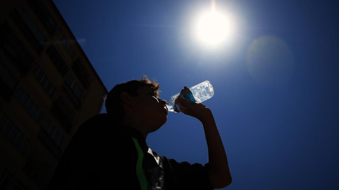
{"label": "paned window strip diagonally up-right of the one at the left edge", "polygon": [[41,123],[41,120],[44,116],[44,112],[40,107],[35,103],[35,101],[28,95],[24,89],[19,89],[15,92],[15,97],[25,106],[26,111],[29,115],[38,123]]}

